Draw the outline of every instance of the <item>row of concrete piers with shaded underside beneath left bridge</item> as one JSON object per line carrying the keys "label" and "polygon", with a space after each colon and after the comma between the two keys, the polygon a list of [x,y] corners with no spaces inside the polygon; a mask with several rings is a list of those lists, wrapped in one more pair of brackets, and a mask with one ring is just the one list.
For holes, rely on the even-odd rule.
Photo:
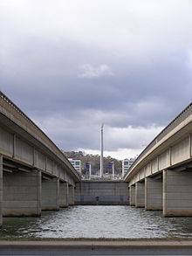
{"label": "row of concrete piers with shaded underside beneath left bridge", "polygon": [[0,225],[4,217],[39,217],[74,204],[74,185],[0,156]]}

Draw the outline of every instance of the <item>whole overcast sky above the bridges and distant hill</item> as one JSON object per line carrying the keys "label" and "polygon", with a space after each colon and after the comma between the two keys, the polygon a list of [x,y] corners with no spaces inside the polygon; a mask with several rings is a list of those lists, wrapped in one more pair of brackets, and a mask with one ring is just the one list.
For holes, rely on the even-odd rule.
{"label": "whole overcast sky above the bridges and distant hill", "polygon": [[192,1],[0,0],[0,89],[60,149],[137,156],[192,95]]}

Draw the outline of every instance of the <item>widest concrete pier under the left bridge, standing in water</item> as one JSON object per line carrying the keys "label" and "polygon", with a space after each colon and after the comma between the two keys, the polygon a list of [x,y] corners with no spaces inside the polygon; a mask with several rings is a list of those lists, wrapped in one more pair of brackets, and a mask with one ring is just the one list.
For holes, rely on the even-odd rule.
{"label": "widest concrete pier under the left bridge, standing in water", "polygon": [[41,172],[3,172],[3,216],[41,215]]}

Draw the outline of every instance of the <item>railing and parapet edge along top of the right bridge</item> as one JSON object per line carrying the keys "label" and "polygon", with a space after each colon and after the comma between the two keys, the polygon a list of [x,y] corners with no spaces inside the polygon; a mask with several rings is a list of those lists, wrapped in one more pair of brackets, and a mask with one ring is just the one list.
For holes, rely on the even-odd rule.
{"label": "railing and parapet edge along top of the right bridge", "polygon": [[175,127],[177,127],[182,121],[187,119],[189,115],[192,114],[192,102],[188,107],[182,110],[180,114],[178,114],[173,121],[171,121],[166,128],[164,128],[159,135],[157,135],[152,142],[147,145],[147,148],[144,149],[141,154],[136,158],[133,165],[131,166],[129,172],[134,169],[134,166],[140,162],[141,158],[147,154],[147,152],[154,147],[157,142],[160,142],[161,139],[168,135],[170,131],[172,131]]}

